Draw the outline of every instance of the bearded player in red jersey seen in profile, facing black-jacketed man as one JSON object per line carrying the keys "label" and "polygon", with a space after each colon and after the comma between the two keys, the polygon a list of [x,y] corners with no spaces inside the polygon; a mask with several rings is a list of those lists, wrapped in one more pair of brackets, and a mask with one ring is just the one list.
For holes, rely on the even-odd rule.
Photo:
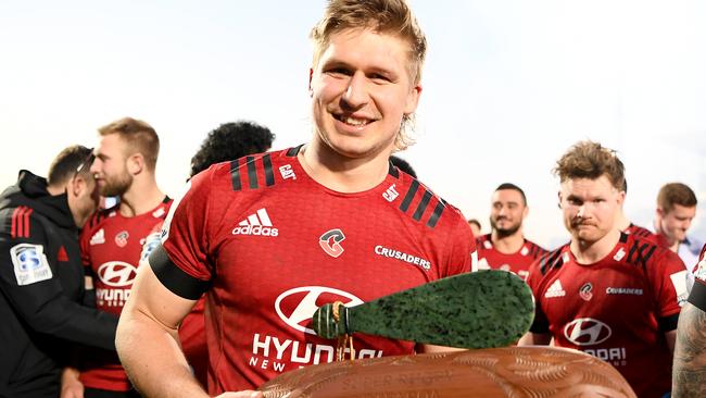
{"label": "bearded player in red jersey seen in profile, facing black-jacketed man", "polygon": [[[97,307],[119,314],[130,295],[142,245],[166,217],[172,200],[156,185],[160,141],[149,124],[126,117],[101,127],[99,134],[90,171],[100,194],[119,201],[97,213],[83,229],[81,258],[93,276]],[[86,398],[137,396],[115,352],[91,352],[81,362]]]}

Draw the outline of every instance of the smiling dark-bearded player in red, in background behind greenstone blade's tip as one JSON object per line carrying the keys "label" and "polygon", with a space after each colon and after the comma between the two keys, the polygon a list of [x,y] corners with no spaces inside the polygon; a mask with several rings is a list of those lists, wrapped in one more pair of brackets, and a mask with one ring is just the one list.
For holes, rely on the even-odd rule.
{"label": "smiling dark-bearded player in red, in background behind greenstone blade's tip", "polygon": [[546,253],[522,234],[528,212],[520,187],[504,183],[495,188],[490,208],[491,233],[476,238],[479,269],[510,271],[527,281],[529,265]]}

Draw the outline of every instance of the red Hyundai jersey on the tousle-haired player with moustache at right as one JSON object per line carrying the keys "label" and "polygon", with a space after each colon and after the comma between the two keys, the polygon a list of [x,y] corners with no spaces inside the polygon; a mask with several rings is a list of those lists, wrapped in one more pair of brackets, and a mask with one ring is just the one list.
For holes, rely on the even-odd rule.
{"label": "red Hyundai jersey on the tousle-haired player with moustache at right", "polygon": [[593,264],[565,245],[530,268],[531,332],[613,364],[639,397],[661,397],[671,388],[664,334],[677,328],[688,274],[676,253],[628,234]]}

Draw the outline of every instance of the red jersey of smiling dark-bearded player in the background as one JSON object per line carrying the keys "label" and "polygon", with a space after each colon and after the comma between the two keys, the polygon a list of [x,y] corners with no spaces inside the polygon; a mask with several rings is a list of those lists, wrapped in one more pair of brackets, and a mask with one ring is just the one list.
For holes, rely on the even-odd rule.
{"label": "red jersey of smiling dark-bearded player in the background", "polygon": [[527,281],[530,264],[547,251],[533,241],[525,239],[525,244],[514,253],[502,253],[493,247],[491,234],[476,238],[478,250],[478,268],[483,270],[510,271]]}

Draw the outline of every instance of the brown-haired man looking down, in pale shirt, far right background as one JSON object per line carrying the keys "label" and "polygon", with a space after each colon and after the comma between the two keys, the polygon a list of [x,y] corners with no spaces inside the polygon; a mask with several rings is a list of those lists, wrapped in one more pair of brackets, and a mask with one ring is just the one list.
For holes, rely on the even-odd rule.
{"label": "brown-haired man looking down, in pale shirt, far right background", "polygon": [[669,183],[659,189],[655,211],[655,233],[669,242],[669,249],[691,270],[698,260],[703,240],[686,235],[696,216],[696,194],[682,183]]}

